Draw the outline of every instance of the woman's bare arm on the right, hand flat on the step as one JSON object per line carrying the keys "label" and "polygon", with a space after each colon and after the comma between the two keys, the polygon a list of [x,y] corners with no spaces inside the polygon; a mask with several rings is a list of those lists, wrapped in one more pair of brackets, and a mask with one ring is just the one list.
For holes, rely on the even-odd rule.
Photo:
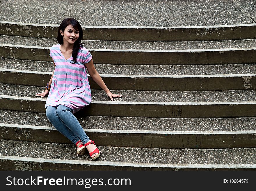
{"label": "woman's bare arm on the right, hand flat on the step", "polygon": [[110,97],[110,99],[112,101],[113,101],[113,97],[122,97],[122,95],[120,95],[120,94],[112,94],[109,91],[109,88],[106,86],[106,84],[100,77],[99,73],[95,69],[94,64],[93,64],[93,59],[91,59],[90,62],[86,63],[85,66],[88,70],[88,73],[92,77],[92,79],[99,85],[99,87],[101,87],[106,92],[106,94]]}

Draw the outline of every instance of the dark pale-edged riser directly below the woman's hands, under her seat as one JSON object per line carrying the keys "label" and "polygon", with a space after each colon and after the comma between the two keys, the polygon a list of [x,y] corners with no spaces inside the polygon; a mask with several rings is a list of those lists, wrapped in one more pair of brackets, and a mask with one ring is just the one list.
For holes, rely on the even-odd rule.
{"label": "dark pale-edged riser directly below the woman's hands, under her seat", "polygon": [[[0,96],[0,109],[45,112],[46,99]],[[92,101],[78,113],[114,117],[256,117],[255,102],[125,102]]]}

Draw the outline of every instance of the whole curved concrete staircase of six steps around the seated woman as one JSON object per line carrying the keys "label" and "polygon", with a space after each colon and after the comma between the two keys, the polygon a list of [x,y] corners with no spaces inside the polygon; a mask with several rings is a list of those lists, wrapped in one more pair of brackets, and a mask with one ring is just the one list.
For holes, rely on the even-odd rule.
{"label": "whole curved concrete staircase of six steps around the seated woman", "polygon": [[95,68],[123,95],[110,101],[89,77],[93,101],[76,116],[97,161],[77,156],[35,97],[57,28],[0,21],[1,170],[256,169],[255,24],[84,26]]}

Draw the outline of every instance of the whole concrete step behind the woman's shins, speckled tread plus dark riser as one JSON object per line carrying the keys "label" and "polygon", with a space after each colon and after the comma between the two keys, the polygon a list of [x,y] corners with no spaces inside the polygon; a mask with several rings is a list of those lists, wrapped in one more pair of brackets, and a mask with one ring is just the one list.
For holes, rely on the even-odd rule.
{"label": "whole concrete step behind the woman's shins, speckled tread plus dark riser", "polygon": [[[71,143],[45,114],[0,110],[0,139]],[[256,118],[134,118],[77,116],[99,146],[255,148]],[[122,141],[120,141],[122,140]]]}

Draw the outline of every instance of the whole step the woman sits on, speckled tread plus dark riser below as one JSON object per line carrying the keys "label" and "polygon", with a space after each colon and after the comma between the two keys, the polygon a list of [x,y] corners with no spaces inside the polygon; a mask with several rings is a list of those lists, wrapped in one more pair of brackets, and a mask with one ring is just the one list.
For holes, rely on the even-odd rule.
{"label": "whole step the woman sits on, speckled tread plus dark riser below", "polygon": [[[42,91],[42,88],[8,84],[2,84],[2,87],[0,109],[45,112],[46,98],[34,97],[36,92]],[[255,90],[175,92],[178,95],[178,99],[175,99],[173,92],[123,90],[113,91],[124,94],[123,98],[107,101],[109,99],[102,90],[94,90],[92,95],[95,101],[79,113],[115,117],[255,117],[255,92]],[[249,97],[250,93],[252,96]],[[180,97],[182,94],[183,97]]]}

